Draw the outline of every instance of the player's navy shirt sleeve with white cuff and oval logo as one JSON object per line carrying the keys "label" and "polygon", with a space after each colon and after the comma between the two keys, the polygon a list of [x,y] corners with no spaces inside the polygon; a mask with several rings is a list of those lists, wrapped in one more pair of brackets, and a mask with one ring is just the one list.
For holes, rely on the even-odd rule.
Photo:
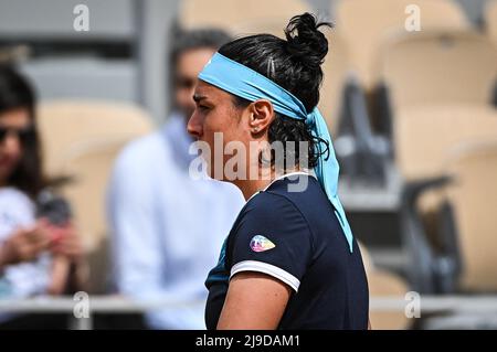
{"label": "player's navy shirt sleeve with white cuff and oval logo", "polygon": [[307,221],[286,198],[263,193],[247,207],[231,247],[230,277],[257,271],[298,291],[311,258]]}

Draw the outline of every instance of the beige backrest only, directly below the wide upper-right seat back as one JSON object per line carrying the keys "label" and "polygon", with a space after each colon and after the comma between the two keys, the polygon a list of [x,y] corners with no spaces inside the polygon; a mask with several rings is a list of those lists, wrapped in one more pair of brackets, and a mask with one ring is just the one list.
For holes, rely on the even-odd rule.
{"label": "beige backrest only, directly below the wide upper-right seat back", "polygon": [[395,162],[406,181],[440,177],[447,152],[462,142],[497,137],[491,106],[438,105],[405,108],[395,115]]}

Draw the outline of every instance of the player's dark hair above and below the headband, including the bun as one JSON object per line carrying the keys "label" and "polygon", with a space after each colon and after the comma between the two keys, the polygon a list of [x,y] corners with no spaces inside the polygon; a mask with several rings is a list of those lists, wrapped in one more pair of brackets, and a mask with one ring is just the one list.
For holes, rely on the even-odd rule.
{"label": "player's dark hair above and below the headband, including the bun", "polygon": [[[319,87],[322,82],[320,65],[328,53],[328,40],[319,31],[321,26],[331,24],[318,22],[314,14],[306,12],[290,19],[284,30],[286,40],[272,34],[251,35],[221,46],[219,52],[290,92],[304,104],[307,113],[310,113],[319,103]],[[250,104],[240,97],[234,97],[234,102],[239,107]],[[317,143],[325,141],[314,137],[304,121],[281,114],[276,114],[268,138],[269,142],[282,141],[284,145],[286,141],[295,141],[296,163],[304,157],[298,154],[298,142],[307,141],[309,148],[305,157],[309,168],[316,166],[320,153],[328,151],[327,145],[316,148]]]}

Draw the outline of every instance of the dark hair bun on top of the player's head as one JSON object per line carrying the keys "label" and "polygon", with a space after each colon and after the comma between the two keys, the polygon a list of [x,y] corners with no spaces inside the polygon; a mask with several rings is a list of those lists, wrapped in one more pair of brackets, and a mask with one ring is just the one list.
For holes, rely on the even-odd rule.
{"label": "dark hair bun on top of the player's head", "polygon": [[328,22],[318,22],[311,13],[293,17],[285,29],[287,51],[305,66],[318,70],[328,53],[328,40],[319,31],[321,25],[331,26]]}

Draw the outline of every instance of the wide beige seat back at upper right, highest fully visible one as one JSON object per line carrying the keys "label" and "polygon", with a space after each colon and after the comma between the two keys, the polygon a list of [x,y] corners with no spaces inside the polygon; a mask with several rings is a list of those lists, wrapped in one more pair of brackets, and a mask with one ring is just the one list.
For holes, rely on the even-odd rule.
{"label": "wide beige seat back at upper right, highest fully visible one", "polygon": [[382,51],[381,76],[395,110],[452,103],[491,104],[497,46],[473,31],[403,33]]}

